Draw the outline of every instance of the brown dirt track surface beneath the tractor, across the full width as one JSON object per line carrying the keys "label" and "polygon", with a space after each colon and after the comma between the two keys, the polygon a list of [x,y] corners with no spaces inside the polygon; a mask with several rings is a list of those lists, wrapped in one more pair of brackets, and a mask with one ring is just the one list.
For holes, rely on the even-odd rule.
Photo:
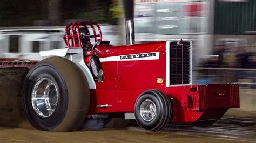
{"label": "brown dirt track surface beneath the tractor, across the full width", "polygon": [[136,124],[76,132],[39,131],[26,121],[20,126],[23,128],[0,127],[0,142],[256,142],[254,118],[225,117],[208,128],[169,124],[158,132],[147,132]]}

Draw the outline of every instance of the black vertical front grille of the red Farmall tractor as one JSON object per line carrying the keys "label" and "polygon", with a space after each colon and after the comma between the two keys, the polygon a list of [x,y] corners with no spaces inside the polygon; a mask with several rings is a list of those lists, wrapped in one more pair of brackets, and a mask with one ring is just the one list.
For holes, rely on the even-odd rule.
{"label": "black vertical front grille of the red Farmall tractor", "polygon": [[170,44],[170,84],[190,84],[191,52],[190,42],[171,42]]}

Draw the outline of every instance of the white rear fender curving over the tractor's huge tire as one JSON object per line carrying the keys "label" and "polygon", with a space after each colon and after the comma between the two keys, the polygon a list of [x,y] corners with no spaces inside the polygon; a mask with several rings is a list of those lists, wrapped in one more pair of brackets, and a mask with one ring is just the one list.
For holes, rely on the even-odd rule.
{"label": "white rear fender curving over the tractor's huge tire", "polygon": [[[84,75],[87,78],[90,89],[96,89],[96,84],[91,74],[90,69],[84,62],[83,49],[82,48],[63,48],[63,49],[52,49],[48,51],[39,52],[41,56],[61,56],[70,61],[74,62],[80,69],[82,69]],[[72,76],[72,75],[71,75]]]}

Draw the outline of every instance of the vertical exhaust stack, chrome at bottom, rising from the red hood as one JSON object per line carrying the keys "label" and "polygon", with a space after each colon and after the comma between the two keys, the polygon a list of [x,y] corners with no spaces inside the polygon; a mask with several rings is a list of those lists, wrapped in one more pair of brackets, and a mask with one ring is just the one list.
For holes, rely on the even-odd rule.
{"label": "vertical exhaust stack, chrome at bottom, rising from the red hood", "polygon": [[134,32],[134,1],[123,0],[123,7],[125,13],[125,28],[126,28],[126,44],[135,44]]}

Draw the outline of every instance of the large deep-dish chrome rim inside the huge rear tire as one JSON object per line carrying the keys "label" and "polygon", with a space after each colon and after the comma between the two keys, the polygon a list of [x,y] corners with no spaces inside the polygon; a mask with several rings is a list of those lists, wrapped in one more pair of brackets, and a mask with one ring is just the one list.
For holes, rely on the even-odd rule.
{"label": "large deep-dish chrome rim inside the huge rear tire", "polygon": [[50,117],[58,104],[56,84],[49,78],[40,78],[33,86],[31,102],[33,110],[38,116]]}

